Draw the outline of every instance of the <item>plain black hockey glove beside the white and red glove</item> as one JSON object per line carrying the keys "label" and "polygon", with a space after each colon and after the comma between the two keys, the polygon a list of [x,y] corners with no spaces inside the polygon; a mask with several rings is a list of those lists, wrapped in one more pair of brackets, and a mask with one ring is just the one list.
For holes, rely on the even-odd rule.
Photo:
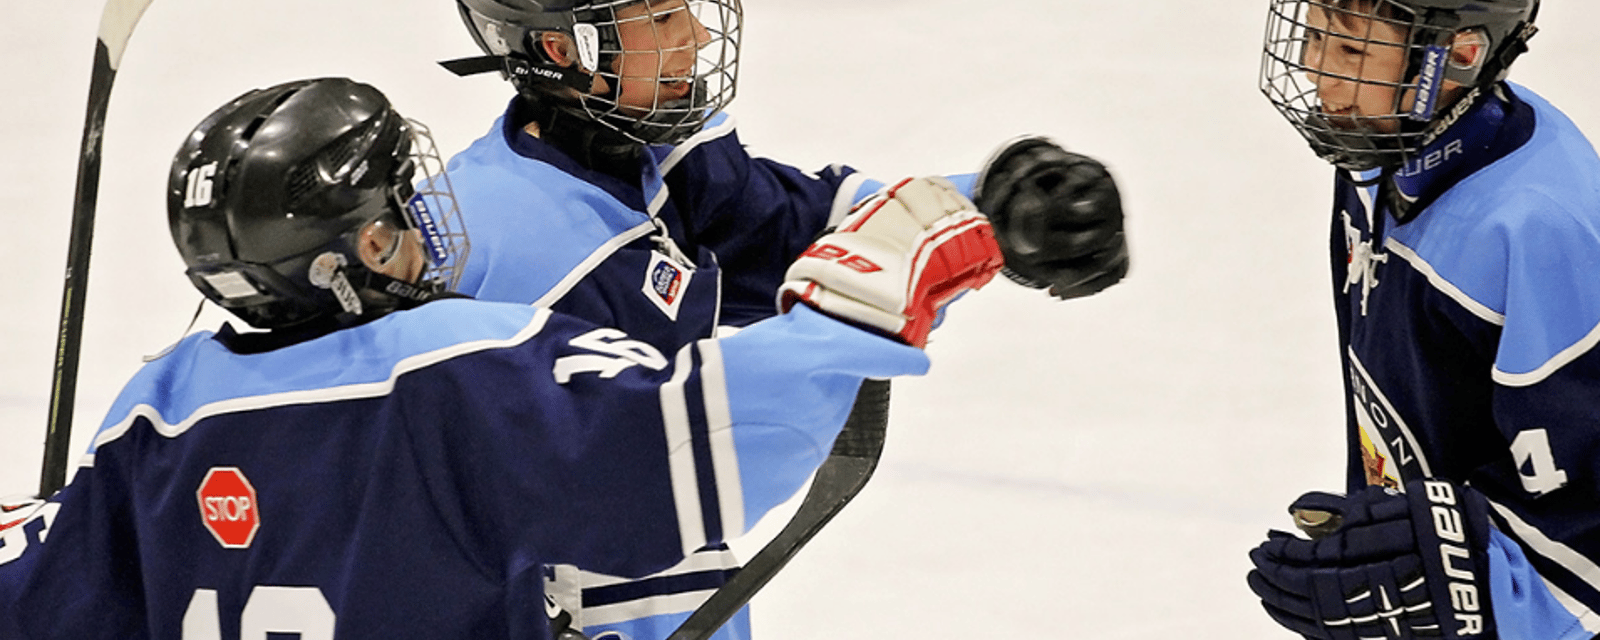
{"label": "plain black hockey glove beside the white and red glove", "polygon": [[1045,138],[1011,141],[979,171],[973,200],[1018,283],[1069,299],[1128,275],[1122,195],[1094,158]]}

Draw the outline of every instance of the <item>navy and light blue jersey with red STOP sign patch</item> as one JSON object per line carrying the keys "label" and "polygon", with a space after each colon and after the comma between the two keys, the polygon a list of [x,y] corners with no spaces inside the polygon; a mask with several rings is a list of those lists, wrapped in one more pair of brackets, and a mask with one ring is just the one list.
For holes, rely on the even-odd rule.
{"label": "navy and light blue jersey with red STOP sign patch", "polygon": [[544,638],[547,565],[640,576],[739,534],[862,378],[926,370],[808,307],[675,354],[454,299],[245,342],[147,365],[72,482],[0,518],[0,637]]}

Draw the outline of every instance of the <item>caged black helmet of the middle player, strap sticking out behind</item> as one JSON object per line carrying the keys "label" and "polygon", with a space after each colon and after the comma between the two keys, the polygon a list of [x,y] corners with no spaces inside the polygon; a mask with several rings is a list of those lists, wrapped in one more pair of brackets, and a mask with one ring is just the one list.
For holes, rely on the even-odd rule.
{"label": "caged black helmet of the middle player, strap sticking out behind", "polygon": [[[578,99],[566,101],[578,115],[634,142],[688,139],[726,109],[738,88],[741,0],[456,0],[456,6],[485,56],[443,62],[446,69],[461,75],[498,70],[520,93],[536,98],[562,101],[576,91]],[[662,18],[675,11],[694,21],[688,40],[650,38],[645,48],[626,50],[632,43],[624,43],[621,29],[630,22],[659,29]],[[563,35],[576,64],[552,59],[542,34]],[[693,53],[691,64],[667,62],[685,53]],[[648,77],[626,75],[619,64],[624,56],[656,62],[648,72],[632,72]],[[650,104],[622,102],[624,83],[653,86]],[[672,85],[688,90],[672,91]]]}

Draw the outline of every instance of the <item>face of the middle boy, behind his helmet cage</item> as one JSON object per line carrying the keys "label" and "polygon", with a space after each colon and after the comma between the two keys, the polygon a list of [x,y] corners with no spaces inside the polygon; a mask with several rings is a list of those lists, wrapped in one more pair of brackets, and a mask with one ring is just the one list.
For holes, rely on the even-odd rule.
{"label": "face of the middle boy, behind his helmet cage", "polygon": [[694,62],[712,38],[686,0],[646,0],[616,11],[622,54],[614,72],[621,77],[618,106],[632,115],[688,98],[694,86]]}

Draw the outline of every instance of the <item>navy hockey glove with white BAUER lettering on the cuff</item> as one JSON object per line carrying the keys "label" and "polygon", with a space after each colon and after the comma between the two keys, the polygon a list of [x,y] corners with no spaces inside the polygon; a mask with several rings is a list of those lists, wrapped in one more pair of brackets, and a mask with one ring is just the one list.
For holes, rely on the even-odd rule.
{"label": "navy hockey glove with white BAUER lettering on the cuff", "polygon": [[1405,493],[1307,493],[1290,506],[1312,539],[1269,531],[1250,589],[1307,638],[1493,640],[1488,507],[1477,491],[1419,480]]}

